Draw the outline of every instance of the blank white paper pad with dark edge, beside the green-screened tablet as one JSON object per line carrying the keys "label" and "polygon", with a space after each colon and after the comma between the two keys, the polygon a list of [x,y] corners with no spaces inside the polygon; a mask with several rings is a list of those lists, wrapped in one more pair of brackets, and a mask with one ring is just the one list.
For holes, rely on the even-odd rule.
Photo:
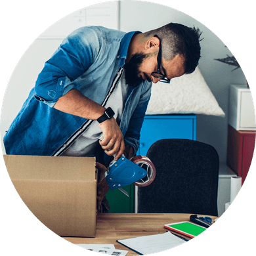
{"label": "blank white paper pad with dark edge, beside the green-screened tablet", "polygon": [[163,234],[156,234],[151,236],[140,236],[137,238],[129,238],[118,240],[120,244],[123,244],[134,251],[142,255],[148,255],[153,253],[160,253],[161,251],[167,251],[179,245],[186,243],[185,240],[178,238],[171,232],[165,232]]}

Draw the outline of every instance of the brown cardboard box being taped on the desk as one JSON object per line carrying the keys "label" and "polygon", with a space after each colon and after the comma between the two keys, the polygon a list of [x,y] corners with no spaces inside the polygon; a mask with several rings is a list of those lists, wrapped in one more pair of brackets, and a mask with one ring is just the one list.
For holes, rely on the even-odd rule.
{"label": "brown cardboard box being taped on the desk", "polygon": [[3,158],[14,188],[41,223],[58,236],[95,237],[95,158]]}

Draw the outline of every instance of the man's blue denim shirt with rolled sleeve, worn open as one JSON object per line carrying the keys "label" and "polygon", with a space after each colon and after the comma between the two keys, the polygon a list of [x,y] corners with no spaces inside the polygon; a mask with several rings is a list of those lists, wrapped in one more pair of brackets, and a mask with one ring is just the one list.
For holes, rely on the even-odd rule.
{"label": "man's blue denim shirt with rolled sleeve, worn open", "polygon": [[[131,37],[100,26],[87,26],[68,35],[37,77],[22,109],[3,138],[6,154],[60,156],[93,121],[53,108],[71,89],[104,106],[118,83]],[[129,87],[119,127],[125,144],[139,148],[152,83]]]}

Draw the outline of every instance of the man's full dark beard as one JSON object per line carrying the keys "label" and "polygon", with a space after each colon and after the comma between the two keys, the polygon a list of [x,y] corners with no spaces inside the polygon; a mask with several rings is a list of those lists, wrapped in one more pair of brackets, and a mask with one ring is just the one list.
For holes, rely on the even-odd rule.
{"label": "man's full dark beard", "polygon": [[[131,57],[131,60],[128,63],[125,63],[125,81],[129,86],[136,87],[142,83],[143,79],[141,76],[139,76],[139,68],[145,58],[147,58],[146,54],[135,53]],[[146,78],[147,80],[150,79],[149,77]]]}

